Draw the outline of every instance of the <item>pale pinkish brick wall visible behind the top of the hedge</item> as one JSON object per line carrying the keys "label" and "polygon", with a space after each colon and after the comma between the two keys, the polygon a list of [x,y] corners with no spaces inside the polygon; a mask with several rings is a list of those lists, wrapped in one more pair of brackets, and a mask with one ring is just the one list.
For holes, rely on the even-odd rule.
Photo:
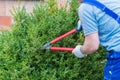
{"label": "pale pinkish brick wall visible behind the top of the hedge", "polygon": [[[66,0],[57,0],[58,7],[65,6]],[[45,2],[45,0],[43,0]],[[40,1],[29,0],[0,0],[0,31],[2,29],[10,30],[10,24],[13,22],[11,11],[13,7],[25,6],[27,12],[32,12],[34,5],[39,4]],[[69,6],[68,6],[69,7]]]}

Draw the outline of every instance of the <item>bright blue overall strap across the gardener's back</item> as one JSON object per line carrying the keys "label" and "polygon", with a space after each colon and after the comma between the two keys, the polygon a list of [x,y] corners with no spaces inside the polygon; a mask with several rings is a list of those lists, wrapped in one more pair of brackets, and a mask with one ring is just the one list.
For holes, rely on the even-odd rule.
{"label": "bright blue overall strap across the gardener's back", "polygon": [[102,3],[96,1],[96,0],[83,0],[82,3],[88,3],[91,5],[96,6],[97,8],[101,9],[102,11],[104,11],[106,14],[108,14],[109,16],[111,16],[112,18],[114,18],[119,24],[120,24],[120,16],[117,15],[115,12],[113,12],[112,10],[108,9],[105,5],[103,5]]}

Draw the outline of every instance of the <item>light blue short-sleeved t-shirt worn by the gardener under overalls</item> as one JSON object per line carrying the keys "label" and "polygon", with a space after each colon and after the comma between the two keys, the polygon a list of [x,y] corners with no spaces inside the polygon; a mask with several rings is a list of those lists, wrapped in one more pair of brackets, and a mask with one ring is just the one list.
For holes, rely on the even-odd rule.
{"label": "light blue short-sleeved t-shirt worn by the gardener under overalls", "polygon": [[[116,14],[120,15],[119,0],[98,0]],[[99,34],[100,44],[108,51],[120,51],[120,24],[94,5],[82,3],[78,8],[84,35]]]}

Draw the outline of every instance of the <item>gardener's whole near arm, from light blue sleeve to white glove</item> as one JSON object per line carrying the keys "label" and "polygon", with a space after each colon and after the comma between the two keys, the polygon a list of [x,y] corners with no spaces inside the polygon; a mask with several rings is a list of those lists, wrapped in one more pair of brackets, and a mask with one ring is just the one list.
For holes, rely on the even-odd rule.
{"label": "gardener's whole near arm, from light blue sleeve to white glove", "polygon": [[96,16],[94,15],[93,7],[88,4],[81,4],[78,13],[79,18],[82,21],[85,41],[83,45],[77,45],[72,53],[76,57],[82,58],[86,56],[86,54],[94,53],[99,48],[100,41],[98,35],[98,23]]}

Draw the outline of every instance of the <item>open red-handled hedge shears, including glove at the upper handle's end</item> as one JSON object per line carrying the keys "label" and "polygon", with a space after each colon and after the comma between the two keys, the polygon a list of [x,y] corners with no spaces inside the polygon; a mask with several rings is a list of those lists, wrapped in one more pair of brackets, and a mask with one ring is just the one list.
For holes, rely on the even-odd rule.
{"label": "open red-handled hedge shears, including glove at the upper handle's end", "polygon": [[52,51],[66,51],[66,52],[72,52],[72,50],[74,48],[67,48],[67,47],[52,47],[51,45],[60,41],[61,39],[69,36],[70,34],[73,34],[73,33],[76,33],[78,31],[80,31],[82,29],[82,26],[81,26],[81,21],[79,20],[78,21],[78,24],[77,24],[77,27],[75,29],[72,29],[70,31],[68,31],[67,33],[51,40],[50,42],[46,43],[45,45],[43,45],[43,49],[49,49],[49,50],[52,50]]}

